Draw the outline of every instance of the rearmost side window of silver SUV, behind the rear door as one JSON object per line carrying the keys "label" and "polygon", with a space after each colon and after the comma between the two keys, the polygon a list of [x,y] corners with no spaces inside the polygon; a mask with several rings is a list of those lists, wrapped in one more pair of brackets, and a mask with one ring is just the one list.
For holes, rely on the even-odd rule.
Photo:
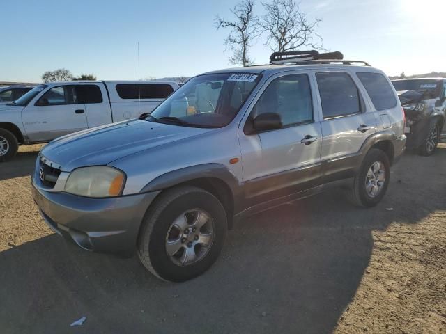
{"label": "rearmost side window of silver SUV, behind the rear door", "polygon": [[397,105],[392,87],[383,74],[364,72],[356,75],[367,90],[376,110],[391,109]]}

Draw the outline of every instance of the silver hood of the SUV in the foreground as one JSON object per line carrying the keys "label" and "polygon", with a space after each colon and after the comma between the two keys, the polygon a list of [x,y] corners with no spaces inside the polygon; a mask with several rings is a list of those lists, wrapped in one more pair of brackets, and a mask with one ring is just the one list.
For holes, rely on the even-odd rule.
{"label": "silver hood of the SUV in the foreground", "polygon": [[107,165],[130,154],[209,131],[213,129],[131,120],[57,138],[41,154],[70,172],[82,166]]}

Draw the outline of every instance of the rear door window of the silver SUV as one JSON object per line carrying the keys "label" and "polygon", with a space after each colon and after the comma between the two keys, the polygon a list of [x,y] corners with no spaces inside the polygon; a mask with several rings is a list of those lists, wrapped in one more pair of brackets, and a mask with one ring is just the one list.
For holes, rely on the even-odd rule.
{"label": "rear door window of the silver SUV", "polygon": [[355,82],[344,72],[317,73],[323,118],[352,115],[364,110]]}

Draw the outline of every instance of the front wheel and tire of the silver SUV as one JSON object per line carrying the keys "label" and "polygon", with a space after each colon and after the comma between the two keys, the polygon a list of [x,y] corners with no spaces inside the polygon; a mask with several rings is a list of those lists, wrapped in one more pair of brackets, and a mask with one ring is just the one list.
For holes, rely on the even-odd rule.
{"label": "front wheel and tire of the silver SUV", "polygon": [[[197,221],[206,223],[194,228],[193,223]],[[217,260],[226,231],[226,212],[211,193],[193,186],[169,189],[153,202],[144,216],[137,242],[139,260],[162,280],[190,280]],[[207,247],[200,243],[202,240],[208,242]]]}

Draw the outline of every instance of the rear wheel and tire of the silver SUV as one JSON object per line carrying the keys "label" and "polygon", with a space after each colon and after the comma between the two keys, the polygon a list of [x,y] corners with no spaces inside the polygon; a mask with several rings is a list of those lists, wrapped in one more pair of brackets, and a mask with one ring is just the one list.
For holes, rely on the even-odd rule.
{"label": "rear wheel and tire of the silver SUV", "polygon": [[[371,171],[373,172],[374,165],[376,162],[380,164],[380,169],[376,170],[377,174],[374,177],[371,177],[369,174]],[[377,165],[374,165],[377,166]],[[384,171],[380,173],[380,171]],[[373,173],[372,173],[373,175]],[[384,176],[384,180],[382,180]],[[370,184],[378,184],[376,186],[371,186],[368,188]],[[383,184],[380,184],[383,182]],[[355,176],[353,180],[353,187],[348,191],[348,198],[351,202],[359,207],[374,207],[377,205],[380,200],[385,196],[385,192],[387,191],[387,186],[389,186],[390,182],[390,161],[387,157],[387,154],[382,150],[378,150],[376,148],[372,148],[367,153],[364,161],[362,161],[362,165],[359,173]],[[366,186],[367,184],[367,186]],[[378,187],[378,188],[376,188]],[[376,191],[377,193],[372,194],[371,191]]]}

